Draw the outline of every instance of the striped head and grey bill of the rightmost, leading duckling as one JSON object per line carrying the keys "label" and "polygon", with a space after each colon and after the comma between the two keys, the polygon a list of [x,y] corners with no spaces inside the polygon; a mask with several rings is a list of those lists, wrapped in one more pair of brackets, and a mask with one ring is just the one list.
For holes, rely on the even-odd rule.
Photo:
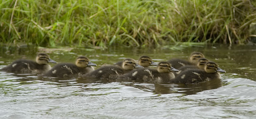
{"label": "striped head and grey bill of the rightmost, leading duckling", "polygon": [[215,62],[208,62],[208,63],[206,63],[205,71],[207,73],[226,72],[223,69],[220,69]]}

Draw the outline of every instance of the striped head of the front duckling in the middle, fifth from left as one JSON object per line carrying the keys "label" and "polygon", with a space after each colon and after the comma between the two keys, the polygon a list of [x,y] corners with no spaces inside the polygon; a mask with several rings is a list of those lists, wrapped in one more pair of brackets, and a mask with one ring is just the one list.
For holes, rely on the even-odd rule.
{"label": "striped head of the front duckling in the middle, fifth from left", "polygon": [[179,71],[175,68],[173,68],[169,63],[167,62],[160,62],[157,65],[157,71],[159,73],[169,73],[170,71]]}

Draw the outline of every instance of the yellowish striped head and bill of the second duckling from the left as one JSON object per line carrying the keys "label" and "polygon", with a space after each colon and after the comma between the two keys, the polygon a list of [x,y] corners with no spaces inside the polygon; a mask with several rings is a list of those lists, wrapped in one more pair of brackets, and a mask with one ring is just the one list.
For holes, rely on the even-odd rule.
{"label": "yellowish striped head and bill of the second duckling from the left", "polygon": [[81,68],[85,68],[85,67],[88,67],[88,66],[97,66],[97,65],[90,62],[87,57],[79,56],[79,57],[77,57],[76,66],[81,67]]}

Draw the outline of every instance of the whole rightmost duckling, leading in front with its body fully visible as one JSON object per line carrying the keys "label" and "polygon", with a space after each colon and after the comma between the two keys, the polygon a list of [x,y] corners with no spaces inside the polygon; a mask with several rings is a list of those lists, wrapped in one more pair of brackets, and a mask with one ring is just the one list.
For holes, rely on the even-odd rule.
{"label": "whole rightmost duckling, leading in front with its body fully visible", "polygon": [[177,75],[173,81],[182,84],[197,84],[203,81],[213,79],[220,79],[221,76],[218,72],[226,72],[218,67],[214,62],[207,62],[204,70],[201,69],[188,69]]}

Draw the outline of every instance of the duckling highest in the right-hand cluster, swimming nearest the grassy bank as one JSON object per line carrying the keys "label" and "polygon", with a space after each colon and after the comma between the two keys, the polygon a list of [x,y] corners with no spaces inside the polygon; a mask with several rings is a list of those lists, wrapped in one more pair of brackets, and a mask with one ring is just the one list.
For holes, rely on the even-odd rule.
{"label": "duckling highest in the right-hand cluster, swimming nearest the grassy bank", "polygon": [[204,57],[205,56],[200,52],[193,52],[190,55],[189,61],[173,58],[167,62],[170,63],[174,68],[179,69],[180,67],[185,65],[196,65],[198,59],[204,58]]}

